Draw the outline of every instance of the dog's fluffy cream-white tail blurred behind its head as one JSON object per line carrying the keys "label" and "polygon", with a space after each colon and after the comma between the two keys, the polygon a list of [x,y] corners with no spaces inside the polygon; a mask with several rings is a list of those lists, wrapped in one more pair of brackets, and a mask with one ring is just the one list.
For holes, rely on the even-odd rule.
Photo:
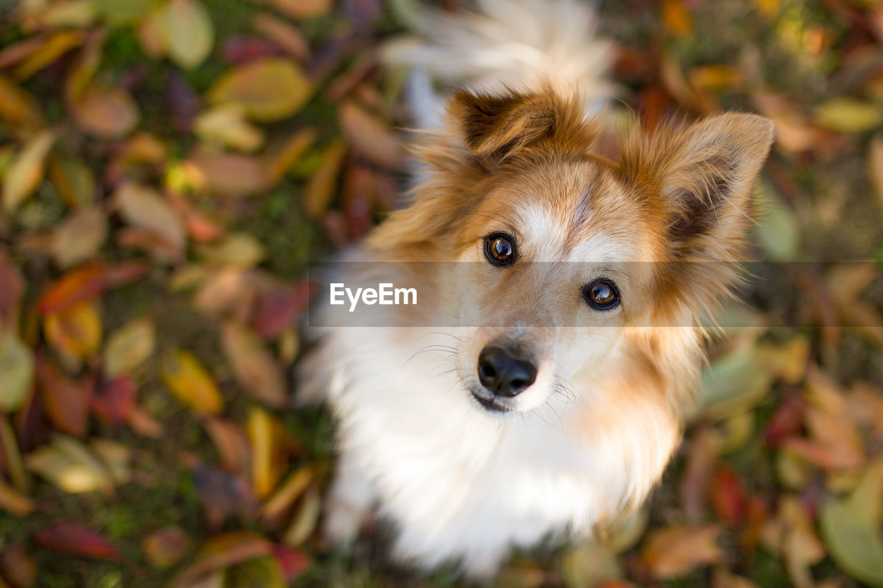
{"label": "dog's fluffy cream-white tail blurred behind its head", "polygon": [[437,102],[433,82],[491,94],[551,85],[578,93],[589,112],[611,94],[612,46],[595,36],[596,14],[585,0],[477,0],[475,11],[457,14],[419,0],[396,6],[419,38],[389,43],[384,58],[413,68],[408,92],[418,118],[420,102]]}

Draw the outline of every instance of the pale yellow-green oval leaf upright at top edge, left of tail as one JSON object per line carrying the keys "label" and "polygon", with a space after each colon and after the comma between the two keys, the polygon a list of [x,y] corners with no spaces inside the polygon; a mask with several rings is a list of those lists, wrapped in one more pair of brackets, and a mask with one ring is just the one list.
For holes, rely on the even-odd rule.
{"label": "pale yellow-green oval leaf upright at top edge, left of tail", "polygon": [[155,16],[157,32],[173,62],[192,70],[205,61],[215,42],[215,28],[197,0],[170,0]]}

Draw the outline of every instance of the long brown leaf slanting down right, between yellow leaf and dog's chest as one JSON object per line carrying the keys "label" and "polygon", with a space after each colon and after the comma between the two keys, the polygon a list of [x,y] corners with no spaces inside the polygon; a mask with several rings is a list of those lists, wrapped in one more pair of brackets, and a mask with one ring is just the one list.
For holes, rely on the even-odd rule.
{"label": "long brown leaf slanting down right, between yellow leaf and dog's chest", "polygon": [[228,322],[223,327],[222,341],[237,381],[249,394],[274,408],[288,402],[282,369],[257,336],[235,322]]}

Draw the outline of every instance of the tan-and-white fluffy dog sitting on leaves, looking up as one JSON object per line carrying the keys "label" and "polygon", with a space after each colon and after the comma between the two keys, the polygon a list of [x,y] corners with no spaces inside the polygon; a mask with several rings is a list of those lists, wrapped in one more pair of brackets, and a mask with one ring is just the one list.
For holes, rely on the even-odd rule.
{"label": "tan-and-white fluffy dog sitting on leaves, looking up", "polygon": [[574,0],[484,0],[424,14],[424,39],[391,50],[423,106],[419,79],[464,87],[415,149],[410,204],[346,256],[404,264],[432,304],[317,327],[300,367],[338,422],[336,544],[380,517],[397,561],[492,577],[513,547],[637,507],[680,440],[773,124],[729,113],[611,141],[593,25]]}

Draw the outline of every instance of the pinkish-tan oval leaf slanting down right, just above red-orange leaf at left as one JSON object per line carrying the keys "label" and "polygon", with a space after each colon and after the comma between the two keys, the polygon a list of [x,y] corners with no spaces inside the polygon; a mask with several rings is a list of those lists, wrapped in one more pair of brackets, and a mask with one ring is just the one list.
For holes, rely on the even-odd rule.
{"label": "pinkish-tan oval leaf slanting down right, just above red-orange leaf at left", "polygon": [[114,192],[113,199],[125,222],[161,237],[175,252],[184,252],[184,221],[162,194],[146,185],[126,182]]}

